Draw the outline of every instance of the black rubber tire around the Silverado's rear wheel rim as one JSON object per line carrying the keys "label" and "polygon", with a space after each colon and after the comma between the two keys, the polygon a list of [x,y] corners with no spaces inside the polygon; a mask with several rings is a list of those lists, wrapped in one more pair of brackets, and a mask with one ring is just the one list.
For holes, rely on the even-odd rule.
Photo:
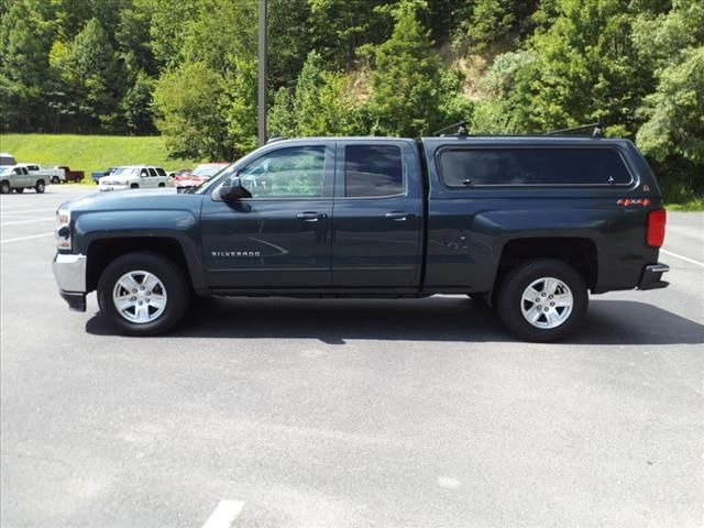
{"label": "black rubber tire around the Silverado's rear wheel rim", "polygon": [[[527,320],[528,316],[524,316],[524,308],[535,307],[537,311],[532,311],[532,314],[539,314],[542,309],[541,306],[552,310],[553,308],[548,306],[550,297],[546,296],[543,292],[538,296],[539,302],[542,305],[534,304],[531,307],[530,301],[522,300],[522,295],[535,282],[548,277],[557,278],[569,288],[569,293],[572,295],[572,306],[564,315],[562,312],[557,315],[564,317],[559,326],[538,328],[536,324],[548,324],[547,316],[540,316],[543,320],[538,320],[534,324]],[[536,300],[538,301],[538,299]],[[514,267],[499,286],[496,300],[498,316],[506,328],[521,339],[536,342],[552,342],[564,339],[582,322],[587,306],[588,293],[582,275],[569,264],[552,258],[531,260]],[[558,309],[560,308],[554,308],[556,311]]]}

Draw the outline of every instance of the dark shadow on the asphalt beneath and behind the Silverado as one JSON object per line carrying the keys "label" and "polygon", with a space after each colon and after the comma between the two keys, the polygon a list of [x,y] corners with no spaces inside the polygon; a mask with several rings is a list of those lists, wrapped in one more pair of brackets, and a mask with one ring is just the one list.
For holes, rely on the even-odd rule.
{"label": "dark shadow on the asphalt beneath and behind the Silverado", "polygon": [[[86,331],[117,332],[99,314]],[[406,341],[518,341],[498,316],[464,297],[428,299],[213,298],[199,300],[167,337],[317,338],[328,344],[345,339]],[[156,338],[160,339],[160,338]],[[652,305],[592,300],[582,328],[565,344],[700,344],[704,326]]]}

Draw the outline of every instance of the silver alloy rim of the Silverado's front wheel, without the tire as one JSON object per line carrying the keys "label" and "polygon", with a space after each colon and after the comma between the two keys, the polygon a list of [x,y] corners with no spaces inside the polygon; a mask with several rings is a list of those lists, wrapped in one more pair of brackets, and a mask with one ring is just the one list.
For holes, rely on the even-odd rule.
{"label": "silver alloy rim of the Silverado's front wheel, without the tire", "polygon": [[118,314],[130,322],[152,322],[166,308],[166,288],[150,272],[134,271],[122,275],[112,288],[112,302]]}

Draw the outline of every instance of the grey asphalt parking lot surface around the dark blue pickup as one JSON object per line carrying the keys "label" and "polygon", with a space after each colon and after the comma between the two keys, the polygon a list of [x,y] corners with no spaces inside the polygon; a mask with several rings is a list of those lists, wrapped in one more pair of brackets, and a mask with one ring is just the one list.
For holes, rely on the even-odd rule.
{"label": "grey asphalt parking lot surface around the dark blue pickup", "polygon": [[561,344],[451,296],[216,299],[135,339],[52,277],[92,190],[1,197],[3,527],[703,526],[704,213],[669,216],[669,288]]}

